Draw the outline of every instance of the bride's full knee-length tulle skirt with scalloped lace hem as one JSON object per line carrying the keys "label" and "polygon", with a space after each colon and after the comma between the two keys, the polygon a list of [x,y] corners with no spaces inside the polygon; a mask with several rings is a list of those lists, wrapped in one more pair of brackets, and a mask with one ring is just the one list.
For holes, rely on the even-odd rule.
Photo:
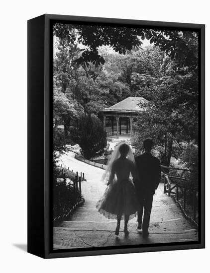
{"label": "bride's full knee-length tulle skirt with scalloped lace hem", "polygon": [[130,219],[135,217],[139,204],[131,179],[113,181],[96,207],[108,219],[117,219],[117,215],[121,215],[121,218],[124,215],[130,215]]}

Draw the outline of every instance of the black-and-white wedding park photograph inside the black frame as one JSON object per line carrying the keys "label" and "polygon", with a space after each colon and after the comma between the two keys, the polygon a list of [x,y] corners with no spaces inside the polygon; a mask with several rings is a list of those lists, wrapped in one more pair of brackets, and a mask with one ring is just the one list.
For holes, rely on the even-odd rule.
{"label": "black-and-white wedding park photograph inside the black frame", "polygon": [[53,250],[199,242],[200,33],[51,31]]}

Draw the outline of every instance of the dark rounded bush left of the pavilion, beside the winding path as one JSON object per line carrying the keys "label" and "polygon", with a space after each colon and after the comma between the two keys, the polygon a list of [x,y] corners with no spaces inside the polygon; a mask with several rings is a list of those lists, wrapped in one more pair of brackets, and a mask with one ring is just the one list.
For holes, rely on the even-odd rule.
{"label": "dark rounded bush left of the pavilion, beside the winding path", "polygon": [[94,115],[81,115],[71,130],[71,136],[87,159],[104,152],[106,132],[100,119]]}

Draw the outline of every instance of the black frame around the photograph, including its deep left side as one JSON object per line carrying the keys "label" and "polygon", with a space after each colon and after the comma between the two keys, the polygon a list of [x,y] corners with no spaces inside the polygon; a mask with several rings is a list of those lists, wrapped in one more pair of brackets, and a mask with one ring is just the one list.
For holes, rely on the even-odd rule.
{"label": "black frame around the photograph, including its deep left side", "polygon": [[[103,249],[52,250],[52,23],[160,27],[199,32],[199,241]],[[44,14],[28,20],[28,252],[42,258],[205,248],[205,25]]]}

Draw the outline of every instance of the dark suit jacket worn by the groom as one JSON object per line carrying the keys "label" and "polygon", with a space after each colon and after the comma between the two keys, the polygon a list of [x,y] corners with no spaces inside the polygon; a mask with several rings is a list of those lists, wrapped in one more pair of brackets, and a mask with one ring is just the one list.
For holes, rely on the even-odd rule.
{"label": "dark suit jacket worn by the groom", "polygon": [[150,152],[135,157],[138,179],[133,182],[137,195],[154,194],[161,178],[160,160]]}

